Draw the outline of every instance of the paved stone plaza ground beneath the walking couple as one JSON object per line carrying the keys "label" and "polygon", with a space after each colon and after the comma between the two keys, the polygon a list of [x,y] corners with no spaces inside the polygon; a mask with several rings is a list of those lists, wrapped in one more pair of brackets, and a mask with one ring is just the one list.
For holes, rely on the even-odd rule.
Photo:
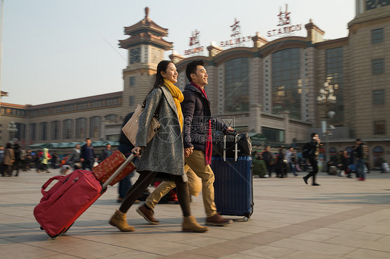
{"label": "paved stone plaza ground beneath the walking couple", "polygon": [[[390,258],[390,175],[372,172],[367,181],[319,173],[321,186],[299,177],[254,178],[255,211],[248,222],[232,217],[207,233],[181,232],[176,204],[159,204],[148,224],[128,212],[133,233],[107,222],[118,207],[117,186],[93,204],[67,234],[51,240],[33,216],[42,184],[58,175],[22,172],[0,177],[0,258]],[[133,178],[134,179],[134,178]],[[192,214],[204,224],[201,197]]]}

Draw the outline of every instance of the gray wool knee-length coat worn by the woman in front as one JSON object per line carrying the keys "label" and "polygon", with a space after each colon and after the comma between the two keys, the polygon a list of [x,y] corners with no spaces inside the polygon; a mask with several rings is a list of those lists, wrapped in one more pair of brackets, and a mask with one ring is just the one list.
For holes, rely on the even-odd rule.
{"label": "gray wool knee-length coat worn by the woman in front", "polygon": [[[159,111],[156,111],[160,103]],[[149,124],[158,114],[160,131],[146,144]],[[139,128],[135,145],[142,150],[137,171],[166,172],[170,175],[184,175],[183,135],[180,130],[178,111],[167,87],[153,89],[146,97],[144,111],[139,116]]]}

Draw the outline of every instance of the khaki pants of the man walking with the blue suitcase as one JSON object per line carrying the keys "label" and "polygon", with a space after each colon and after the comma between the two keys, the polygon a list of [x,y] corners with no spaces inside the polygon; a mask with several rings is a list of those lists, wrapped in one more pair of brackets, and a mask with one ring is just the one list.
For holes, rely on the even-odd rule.
{"label": "khaki pants of the man walking with the blue suitcase", "polygon": [[[217,207],[214,203],[214,172],[212,172],[210,165],[206,165],[205,154],[202,151],[194,150],[189,157],[185,157],[185,163],[189,194],[198,196],[198,193],[202,188],[203,205],[205,206],[206,216],[214,216],[217,214]],[[173,181],[163,181],[146,199],[146,206],[154,209],[160,199],[164,197],[169,190],[175,187],[176,185]]]}

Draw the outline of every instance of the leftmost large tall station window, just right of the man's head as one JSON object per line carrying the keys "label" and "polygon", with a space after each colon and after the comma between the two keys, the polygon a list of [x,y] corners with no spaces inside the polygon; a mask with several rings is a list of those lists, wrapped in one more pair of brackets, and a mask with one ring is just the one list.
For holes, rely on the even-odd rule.
{"label": "leftmost large tall station window, just right of the man's head", "polygon": [[249,110],[249,58],[239,57],[225,63],[225,110]]}

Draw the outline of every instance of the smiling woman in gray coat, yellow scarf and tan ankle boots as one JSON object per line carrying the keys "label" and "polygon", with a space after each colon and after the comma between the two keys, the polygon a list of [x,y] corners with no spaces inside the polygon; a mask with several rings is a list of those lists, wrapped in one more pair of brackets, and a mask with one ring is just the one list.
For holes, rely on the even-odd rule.
{"label": "smiling woman in gray coat, yellow scarf and tan ankle boots", "polygon": [[[162,180],[175,181],[180,207],[183,211],[183,231],[205,232],[207,227],[199,225],[189,209],[187,175],[184,172],[183,114],[180,102],[183,93],[173,84],[178,82],[178,71],[173,62],[163,60],[157,66],[153,89],[144,100],[144,111],[139,116],[136,147],[132,152],[143,150],[137,172],[139,178],[128,190],[119,210],[112,215],[110,224],[120,231],[134,231],[126,220],[126,213],[139,195],[158,176]],[[146,143],[149,124],[155,114],[161,124],[160,131],[151,142]]]}

